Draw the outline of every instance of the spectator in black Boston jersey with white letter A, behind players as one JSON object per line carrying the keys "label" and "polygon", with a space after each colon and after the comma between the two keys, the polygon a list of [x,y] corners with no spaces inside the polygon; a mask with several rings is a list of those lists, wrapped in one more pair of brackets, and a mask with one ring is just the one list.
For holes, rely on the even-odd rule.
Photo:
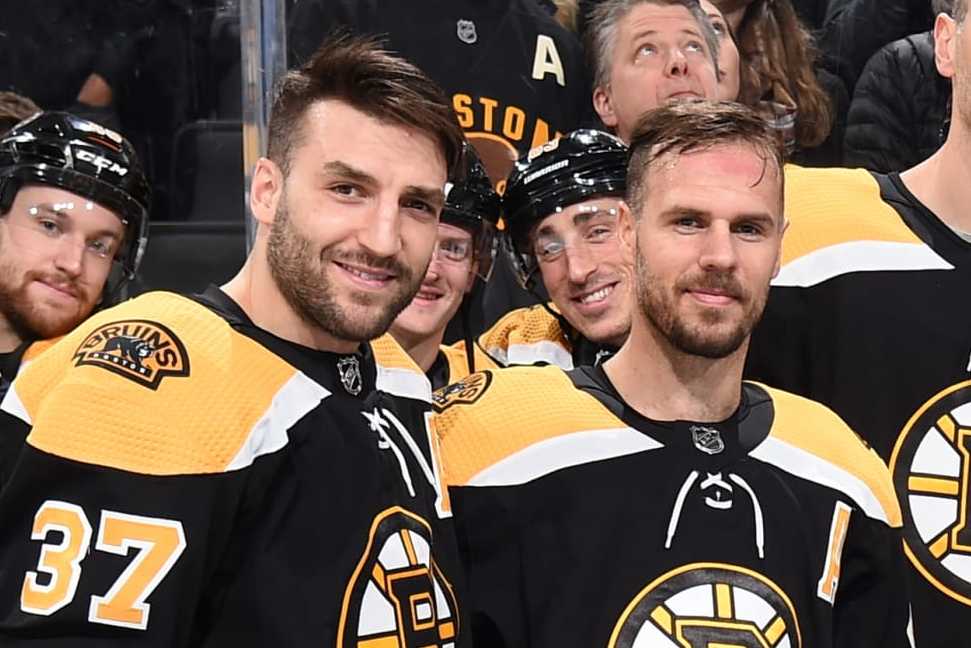
{"label": "spectator in black Boston jersey with white letter A, behind players", "polygon": [[[594,119],[580,42],[537,0],[302,0],[288,25],[291,67],[335,28],[386,36],[445,89],[499,193],[520,155]],[[505,258],[483,292],[477,331],[533,302]]]}

